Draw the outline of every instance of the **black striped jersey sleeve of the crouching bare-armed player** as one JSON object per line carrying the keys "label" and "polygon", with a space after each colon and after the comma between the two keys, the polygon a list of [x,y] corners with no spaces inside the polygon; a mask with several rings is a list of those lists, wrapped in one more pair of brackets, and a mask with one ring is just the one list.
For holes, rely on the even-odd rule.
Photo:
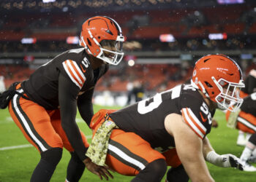
{"label": "black striped jersey sleeve of the crouching bare-armed player", "polygon": [[200,99],[184,95],[181,98],[181,115],[184,122],[200,138],[205,138],[211,131],[211,112],[206,103]]}

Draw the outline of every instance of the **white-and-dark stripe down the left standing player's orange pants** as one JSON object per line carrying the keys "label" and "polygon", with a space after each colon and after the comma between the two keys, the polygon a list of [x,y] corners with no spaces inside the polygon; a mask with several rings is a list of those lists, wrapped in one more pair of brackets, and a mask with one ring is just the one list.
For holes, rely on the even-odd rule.
{"label": "white-and-dark stripe down the left standing player's orange pants", "polygon": [[[18,92],[23,92],[23,90],[19,90]],[[20,95],[15,95],[12,99],[12,110],[15,112],[15,116],[18,118],[29,138],[38,146],[39,151],[47,151],[50,149],[50,146],[38,135],[29,117],[20,107],[20,98]]]}

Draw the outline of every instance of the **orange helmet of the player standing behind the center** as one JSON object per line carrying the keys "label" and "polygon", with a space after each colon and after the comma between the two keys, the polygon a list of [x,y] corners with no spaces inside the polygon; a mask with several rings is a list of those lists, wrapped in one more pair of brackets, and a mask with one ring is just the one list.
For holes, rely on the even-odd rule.
{"label": "orange helmet of the player standing behind the center", "polygon": [[[118,65],[124,56],[124,36],[118,23],[110,17],[97,16],[86,20],[80,33],[80,46],[106,63]],[[105,49],[104,47],[110,49]]]}

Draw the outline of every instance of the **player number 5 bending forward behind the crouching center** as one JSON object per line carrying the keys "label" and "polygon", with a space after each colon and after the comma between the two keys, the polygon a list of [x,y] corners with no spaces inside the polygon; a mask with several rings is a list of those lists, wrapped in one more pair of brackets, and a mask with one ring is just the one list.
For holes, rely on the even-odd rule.
{"label": "player number 5 bending forward behind the crouching center", "polygon": [[4,102],[12,98],[9,102],[12,119],[41,155],[31,181],[50,181],[63,147],[71,154],[67,181],[79,181],[85,167],[101,179],[113,177],[108,167],[95,165],[86,157],[89,143],[78,129],[75,116],[78,107],[83,120],[90,123],[94,114],[91,102],[94,86],[109,65],[117,65],[123,58],[123,41],[115,20],[91,17],[82,25],[83,48],[57,55],[28,80],[5,92]]}

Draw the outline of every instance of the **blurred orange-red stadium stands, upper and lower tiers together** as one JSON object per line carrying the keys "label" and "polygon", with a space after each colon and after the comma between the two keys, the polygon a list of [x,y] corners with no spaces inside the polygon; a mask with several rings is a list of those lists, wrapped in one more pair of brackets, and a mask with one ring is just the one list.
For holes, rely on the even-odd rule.
{"label": "blurred orange-red stadium stands, upper and lower tiers together", "polygon": [[[248,5],[248,4],[247,4]],[[256,46],[256,9],[246,4],[231,6],[108,11],[124,31],[127,41],[124,51],[196,51],[253,50]],[[63,52],[78,48],[67,44],[67,36],[79,36],[80,26],[87,17],[98,12],[17,12],[3,14],[0,20],[0,52]],[[1,12],[0,12],[1,14]],[[159,35],[171,33],[172,42],[159,41]],[[222,40],[208,39],[209,33],[225,33]],[[24,37],[36,38],[35,44],[22,44]],[[50,57],[50,56],[49,56]],[[23,57],[20,58],[23,60]],[[0,66],[7,87],[13,80],[26,79],[34,70],[25,66]],[[123,66],[110,70],[99,81],[97,90],[124,92],[128,82],[139,81],[145,90],[165,90],[184,82],[191,68],[180,64]],[[246,72],[246,69],[244,68]],[[124,76],[125,75],[125,76]]]}

